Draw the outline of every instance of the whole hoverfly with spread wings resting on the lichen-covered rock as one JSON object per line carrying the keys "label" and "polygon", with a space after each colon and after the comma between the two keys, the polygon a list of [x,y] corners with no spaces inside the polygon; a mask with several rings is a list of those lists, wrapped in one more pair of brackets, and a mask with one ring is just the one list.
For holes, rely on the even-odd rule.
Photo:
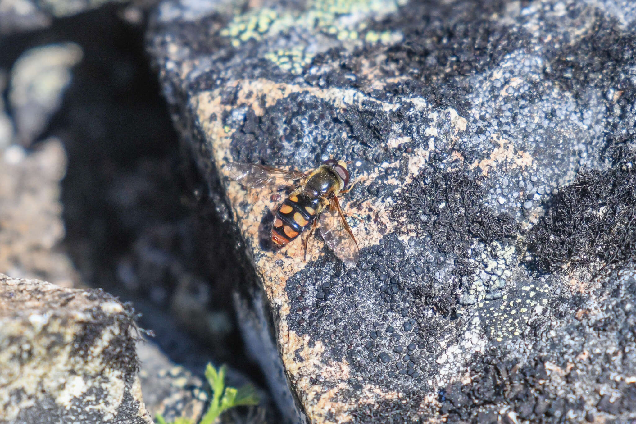
{"label": "whole hoverfly with spread wings resting on the lichen-covered rock", "polygon": [[338,196],[349,191],[345,190],[349,184],[345,162],[329,159],[308,174],[247,162],[228,163],[226,169],[232,179],[249,188],[280,190],[294,183],[294,190],[274,215],[273,243],[284,246],[310,228],[303,242],[306,256],[309,237],[320,225],[329,249],[345,264],[357,264],[360,254],[356,238],[338,202]]}

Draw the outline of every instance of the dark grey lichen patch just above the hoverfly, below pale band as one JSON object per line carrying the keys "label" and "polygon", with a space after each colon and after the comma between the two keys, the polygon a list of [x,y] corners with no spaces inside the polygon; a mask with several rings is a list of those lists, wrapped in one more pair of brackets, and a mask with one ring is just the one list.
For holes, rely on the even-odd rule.
{"label": "dark grey lichen patch just above the hoverfly, below pale band", "polygon": [[394,122],[394,116],[377,102],[366,101],[360,109],[340,111],[310,93],[291,93],[258,116],[252,108],[233,103],[236,90],[228,88],[225,92],[227,104],[235,109],[223,118],[226,125],[239,127],[232,135],[233,160],[256,163],[262,158],[276,158],[266,165],[308,170],[330,155],[364,159],[364,167],[373,165],[373,161],[392,162],[399,157],[400,152],[378,152],[374,148],[387,142]]}

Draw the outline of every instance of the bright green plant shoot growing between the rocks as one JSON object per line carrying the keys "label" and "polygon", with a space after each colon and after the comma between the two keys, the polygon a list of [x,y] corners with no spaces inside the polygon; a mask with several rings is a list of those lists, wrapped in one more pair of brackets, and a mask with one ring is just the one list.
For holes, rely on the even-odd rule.
{"label": "bright green plant shoot growing between the rocks", "polygon": [[[225,386],[226,366],[221,366],[218,371],[207,364],[205,368],[205,378],[212,388],[212,400],[199,424],[212,424],[221,413],[235,406],[258,405],[259,399],[256,390],[251,385],[241,388]],[[173,423],[167,423],[161,414],[156,416],[156,424],[194,424],[187,418],[177,418]]]}

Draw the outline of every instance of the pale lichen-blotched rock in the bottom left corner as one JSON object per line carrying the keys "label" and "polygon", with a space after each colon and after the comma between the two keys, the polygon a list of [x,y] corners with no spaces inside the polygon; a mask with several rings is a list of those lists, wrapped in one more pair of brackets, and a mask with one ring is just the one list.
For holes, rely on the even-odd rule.
{"label": "pale lichen-blotched rock in the bottom left corner", "polygon": [[0,275],[0,421],[144,423],[134,311],[99,290]]}

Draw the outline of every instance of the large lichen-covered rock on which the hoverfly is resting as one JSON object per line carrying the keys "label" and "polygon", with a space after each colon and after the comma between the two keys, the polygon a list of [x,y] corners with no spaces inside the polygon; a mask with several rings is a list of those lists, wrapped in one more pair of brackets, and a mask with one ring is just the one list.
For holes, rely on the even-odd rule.
{"label": "large lichen-covered rock on which the hoverfly is resting", "polygon": [[[597,407],[636,373],[634,20],[625,1],[159,4],[148,51],[310,422],[537,420],[535,399],[544,422],[635,418]],[[307,261],[273,250],[280,199],[223,168],[330,156],[352,161],[354,267],[319,237]]]}

